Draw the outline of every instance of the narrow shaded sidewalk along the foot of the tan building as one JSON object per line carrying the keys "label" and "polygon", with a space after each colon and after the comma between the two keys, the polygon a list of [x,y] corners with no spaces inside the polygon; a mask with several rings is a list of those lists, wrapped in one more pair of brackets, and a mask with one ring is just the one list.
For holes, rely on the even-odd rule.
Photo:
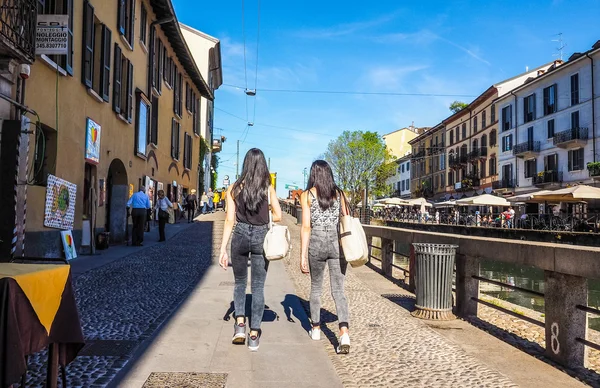
{"label": "narrow shaded sidewalk along the foot of the tan building", "polygon": [[[177,234],[186,230],[193,224],[188,224],[187,220],[181,220],[179,223],[167,224],[165,227],[165,235],[167,241],[176,237]],[[129,227],[131,228],[131,226]],[[131,231],[130,231],[131,232]],[[96,250],[95,255],[79,255],[76,259],[71,260],[71,274],[73,278],[76,278],[92,269],[102,267],[103,265],[112,263],[115,260],[122,259],[125,256],[129,256],[133,253],[138,253],[144,249],[153,247],[160,244],[158,242],[158,223],[154,223],[150,226],[150,232],[144,233],[144,245],[136,247],[133,245],[126,245],[125,243],[119,245],[111,245],[108,249]]]}

